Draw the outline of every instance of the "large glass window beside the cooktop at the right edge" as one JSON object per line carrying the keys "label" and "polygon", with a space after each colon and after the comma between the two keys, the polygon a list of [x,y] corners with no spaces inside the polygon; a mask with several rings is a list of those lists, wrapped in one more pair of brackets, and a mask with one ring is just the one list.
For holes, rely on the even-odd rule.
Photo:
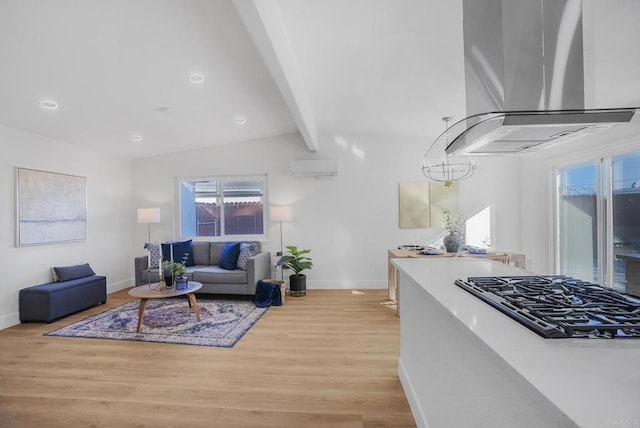
{"label": "large glass window beside the cooktop at the right edge", "polygon": [[624,261],[640,252],[640,152],[558,170],[560,273],[624,291]]}

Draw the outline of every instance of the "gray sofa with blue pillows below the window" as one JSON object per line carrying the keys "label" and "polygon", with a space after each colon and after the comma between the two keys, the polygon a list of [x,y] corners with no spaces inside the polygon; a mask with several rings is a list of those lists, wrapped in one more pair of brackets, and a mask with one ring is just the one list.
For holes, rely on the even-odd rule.
{"label": "gray sofa with blue pillows below the window", "polygon": [[[187,266],[187,278],[202,283],[198,293],[255,295],[258,281],[271,277],[271,253],[261,252],[259,242],[252,241],[258,253],[247,259],[246,270],[219,266],[226,242],[193,241],[195,266]],[[148,256],[135,258],[136,286],[158,281],[158,268],[147,271]]]}

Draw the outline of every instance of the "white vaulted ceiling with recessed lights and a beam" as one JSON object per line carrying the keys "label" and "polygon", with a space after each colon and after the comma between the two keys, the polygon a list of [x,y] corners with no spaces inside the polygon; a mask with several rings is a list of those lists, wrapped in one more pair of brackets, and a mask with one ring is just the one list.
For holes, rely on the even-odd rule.
{"label": "white vaulted ceiling with recessed lights and a beam", "polygon": [[461,1],[0,0],[0,58],[0,124],[132,159],[465,114]]}

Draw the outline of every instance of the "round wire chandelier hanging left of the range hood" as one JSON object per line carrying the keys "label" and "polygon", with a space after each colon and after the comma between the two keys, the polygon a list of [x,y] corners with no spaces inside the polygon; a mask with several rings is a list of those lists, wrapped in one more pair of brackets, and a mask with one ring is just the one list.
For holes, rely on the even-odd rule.
{"label": "round wire chandelier hanging left of the range hood", "polygon": [[[438,181],[444,183],[445,187],[451,187],[454,181],[461,181],[471,177],[473,170],[476,169],[476,164],[472,161],[463,161],[462,159],[449,159],[449,154],[444,149],[449,145],[447,130],[451,117],[445,116],[442,120],[444,121],[444,133],[436,138],[427,150],[427,153],[424,154],[422,173],[431,181]],[[433,154],[430,155],[430,152],[443,137],[445,140],[444,147],[442,148],[444,156],[436,158]]]}

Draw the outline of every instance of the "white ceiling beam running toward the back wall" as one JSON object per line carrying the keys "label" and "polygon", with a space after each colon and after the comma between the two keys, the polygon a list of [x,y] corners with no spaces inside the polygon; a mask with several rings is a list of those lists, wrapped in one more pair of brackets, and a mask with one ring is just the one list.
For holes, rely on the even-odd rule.
{"label": "white ceiling beam running toward the back wall", "polygon": [[310,151],[318,150],[317,127],[289,33],[274,0],[234,0],[240,17],[271,72]]}

